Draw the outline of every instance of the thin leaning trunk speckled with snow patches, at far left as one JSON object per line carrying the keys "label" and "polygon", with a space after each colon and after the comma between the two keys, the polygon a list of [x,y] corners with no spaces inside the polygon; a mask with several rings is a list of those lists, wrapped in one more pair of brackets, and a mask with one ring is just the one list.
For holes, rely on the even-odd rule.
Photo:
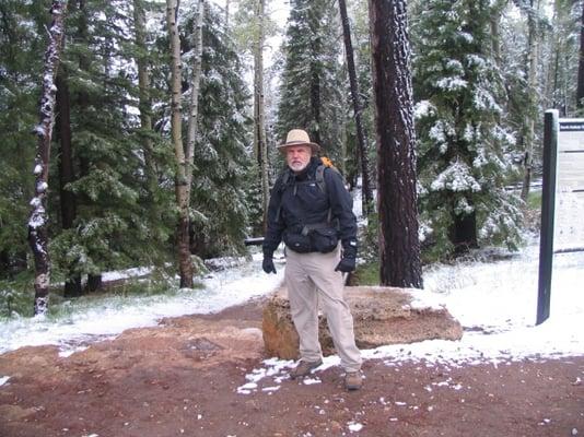
{"label": "thin leaning trunk speckled with snow patches, at far left", "polygon": [[35,260],[35,299],[34,314],[45,315],[48,309],[50,284],[50,260],[48,257],[47,232],[47,190],[50,161],[50,140],[55,120],[55,78],[59,68],[59,56],[65,32],[65,12],[67,2],[54,0],[50,9],[52,24],[49,28],[49,44],[45,52],[45,71],[40,94],[39,122],[35,128],[38,137],[35,158],[35,196],[31,201],[32,211],[28,218],[28,244]]}

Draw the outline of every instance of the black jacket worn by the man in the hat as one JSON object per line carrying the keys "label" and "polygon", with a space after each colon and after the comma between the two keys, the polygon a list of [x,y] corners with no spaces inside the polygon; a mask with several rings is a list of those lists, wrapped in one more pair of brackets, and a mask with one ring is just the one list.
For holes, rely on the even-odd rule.
{"label": "black jacket worn by the man in the hat", "polygon": [[304,225],[326,223],[329,211],[338,229],[343,256],[357,256],[353,200],[344,188],[341,175],[332,168],[325,168],[324,192],[316,184],[318,165],[322,165],[320,160],[313,156],[302,173],[296,175],[287,168],[276,180],[268,206],[268,226],[262,246],[266,257],[272,256],[284,232],[301,233]]}

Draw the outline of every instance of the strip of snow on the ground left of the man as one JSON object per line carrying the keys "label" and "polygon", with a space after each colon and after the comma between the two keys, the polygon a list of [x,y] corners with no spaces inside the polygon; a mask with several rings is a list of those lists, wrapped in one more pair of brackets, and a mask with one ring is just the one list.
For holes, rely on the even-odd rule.
{"label": "strip of snow on the ground left of the man", "polygon": [[[57,344],[67,355],[89,342],[115,336],[129,328],[151,327],[164,317],[217,312],[272,292],[283,280],[261,270],[259,253],[253,261],[199,280],[201,288],[148,297],[103,297],[71,304],[58,317],[17,318],[0,321],[0,353],[26,345]],[[112,281],[148,273],[144,269],[104,274]]]}

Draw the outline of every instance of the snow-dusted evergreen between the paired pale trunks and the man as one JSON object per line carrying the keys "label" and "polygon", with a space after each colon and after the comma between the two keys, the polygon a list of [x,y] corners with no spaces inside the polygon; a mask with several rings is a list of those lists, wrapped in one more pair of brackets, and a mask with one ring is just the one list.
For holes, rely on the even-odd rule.
{"label": "snow-dusted evergreen between the paired pale trunks and the man", "polygon": [[[188,3],[187,3],[188,4]],[[194,32],[194,16],[186,8],[186,35]],[[203,23],[202,76],[199,93],[199,132],[195,143],[191,192],[191,251],[201,257],[243,250],[248,233],[247,182],[253,166],[249,93],[233,39],[221,25],[222,14],[209,4]],[[191,62],[185,59],[186,78]]]}

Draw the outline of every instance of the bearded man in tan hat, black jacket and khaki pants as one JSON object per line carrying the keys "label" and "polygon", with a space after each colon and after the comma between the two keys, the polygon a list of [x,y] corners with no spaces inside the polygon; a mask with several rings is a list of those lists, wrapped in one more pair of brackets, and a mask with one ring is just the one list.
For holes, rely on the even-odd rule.
{"label": "bearded man in tan hat, black jacket and khaki pants", "polygon": [[276,273],[273,251],[283,239],[284,279],[301,356],[290,376],[292,379],[306,376],[323,363],[318,342],[320,300],[346,371],[344,386],[358,390],[362,386],[362,361],[354,342],[353,318],[343,299],[342,280],[343,272],[355,268],[357,220],[352,199],[340,174],[323,167],[316,157],[320,147],[311,142],[304,130],[291,130],[278,149],[284,153],[288,168],[271,192],[262,269]]}

